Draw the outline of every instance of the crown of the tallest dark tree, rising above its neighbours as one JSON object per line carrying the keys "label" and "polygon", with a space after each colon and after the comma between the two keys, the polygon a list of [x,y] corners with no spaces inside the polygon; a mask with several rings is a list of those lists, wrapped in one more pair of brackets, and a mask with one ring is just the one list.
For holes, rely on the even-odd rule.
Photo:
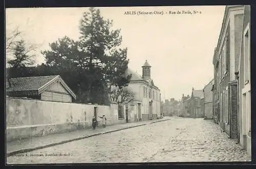
{"label": "crown of the tallest dark tree, rising above its neighbours", "polygon": [[80,61],[90,72],[96,69],[97,73],[102,74],[100,78],[103,82],[110,79],[112,85],[122,87],[131,78],[123,76],[129,60],[127,48],[119,48],[122,42],[120,30],[112,30],[112,25],[113,21],[104,20],[100,16],[99,9],[90,8],[90,12],[83,13],[79,25],[79,47],[84,55],[81,55]]}

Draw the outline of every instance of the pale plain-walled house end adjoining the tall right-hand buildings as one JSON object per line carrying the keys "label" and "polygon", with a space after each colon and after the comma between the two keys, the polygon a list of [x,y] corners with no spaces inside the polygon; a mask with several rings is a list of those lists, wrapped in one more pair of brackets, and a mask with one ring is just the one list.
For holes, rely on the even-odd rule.
{"label": "pale plain-walled house end adjoining the tall right-hand buildings", "polygon": [[204,98],[204,118],[213,119],[213,106],[212,106],[212,86],[214,85],[214,79],[212,79],[203,89]]}

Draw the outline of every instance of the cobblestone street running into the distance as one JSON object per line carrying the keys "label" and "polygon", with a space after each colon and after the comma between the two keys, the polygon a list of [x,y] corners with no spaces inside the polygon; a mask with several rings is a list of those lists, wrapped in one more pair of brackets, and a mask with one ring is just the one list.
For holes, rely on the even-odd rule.
{"label": "cobblestone street running into the distance", "polygon": [[172,118],[7,158],[8,164],[198,161],[249,161],[249,158],[216,124],[185,118]]}

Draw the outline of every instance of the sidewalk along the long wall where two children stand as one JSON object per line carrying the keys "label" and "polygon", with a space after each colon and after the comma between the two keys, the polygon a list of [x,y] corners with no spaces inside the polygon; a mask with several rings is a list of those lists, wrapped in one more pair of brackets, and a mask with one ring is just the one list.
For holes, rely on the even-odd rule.
{"label": "sidewalk along the long wall where two children stand", "polygon": [[67,133],[59,133],[59,134],[51,134],[42,137],[33,137],[23,140],[15,140],[13,142],[6,143],[6,152],[7,157],[19,153],[30,152],[38,149],[43,149],[55,145],[60,145],[68,142],[72,142],[74,140],[79,140],[99,134],[110,133],[114,131],[119,131],[123,129],[128,129],[132,127],[143,126],[146,124],[161,122],[170,120],[169,117],[164,117],[163,119],[144,121],[144,122],[134,122],[134,123],[125,123],[125,124],[117,124],[113,126],[106,126],[106,128],[96,128],[96,130],[92,129],[84,129],[77,130],[73,132]]}

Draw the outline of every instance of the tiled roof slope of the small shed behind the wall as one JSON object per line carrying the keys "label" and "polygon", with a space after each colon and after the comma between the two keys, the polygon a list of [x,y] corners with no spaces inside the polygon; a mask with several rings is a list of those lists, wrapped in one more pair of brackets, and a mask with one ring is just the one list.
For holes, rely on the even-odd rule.
{"label": "tiled roof slope of the small shed behind the wall", "polygon": [[6,91],[36,91],[57,76],[58,75],[10,78],[11,86],[9,86],[7,80]]}

